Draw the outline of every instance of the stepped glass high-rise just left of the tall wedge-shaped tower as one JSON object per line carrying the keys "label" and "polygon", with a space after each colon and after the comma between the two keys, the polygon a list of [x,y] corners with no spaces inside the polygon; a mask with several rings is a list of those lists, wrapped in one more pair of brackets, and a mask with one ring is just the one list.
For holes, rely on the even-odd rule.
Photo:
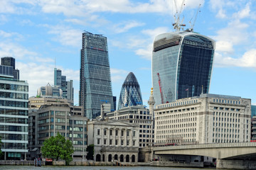
{"label": "stepped glass high-rise just left of the tall wedge-shaped tower", "polygon": [[61,69],[54,68],[54,87],[62,90],[62,97],[74,101],[73,80],[67,81],[61,74]]}

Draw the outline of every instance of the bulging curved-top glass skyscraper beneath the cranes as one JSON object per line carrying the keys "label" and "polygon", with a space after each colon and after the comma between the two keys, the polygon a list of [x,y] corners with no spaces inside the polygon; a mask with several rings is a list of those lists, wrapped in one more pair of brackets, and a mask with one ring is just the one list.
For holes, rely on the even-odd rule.
{"label": "bulging curved-top glass skyscraper beneath the cranes", "polygon": [[156,36],[152,80],[156,105],[208,94],[213,68],[214,40],[193,32]]}

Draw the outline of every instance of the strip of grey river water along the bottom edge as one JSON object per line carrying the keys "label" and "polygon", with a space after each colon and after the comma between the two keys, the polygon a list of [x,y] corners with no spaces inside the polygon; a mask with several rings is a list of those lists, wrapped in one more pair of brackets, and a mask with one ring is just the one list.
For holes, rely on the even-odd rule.
{"label": "strip of grey river water along the bottom edge", "polygon": [[[10,166],[2,165],[0,166],[1,170],[203,170],[196,168],[174,168],[174,167],[155,167],[155,166]],[[208,169],[209,170],[209,169]]]}

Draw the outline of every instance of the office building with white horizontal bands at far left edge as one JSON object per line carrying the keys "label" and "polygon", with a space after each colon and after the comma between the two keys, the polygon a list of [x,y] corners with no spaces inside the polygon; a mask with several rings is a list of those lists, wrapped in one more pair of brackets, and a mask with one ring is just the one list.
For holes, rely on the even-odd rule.
{"label": "office building with white horizontal bands at far left edge", "polygon": [[0,66],[0,137],[4,160],[26,159],[28,152],[28,83],[14,79],[13,70],[13,66]]}

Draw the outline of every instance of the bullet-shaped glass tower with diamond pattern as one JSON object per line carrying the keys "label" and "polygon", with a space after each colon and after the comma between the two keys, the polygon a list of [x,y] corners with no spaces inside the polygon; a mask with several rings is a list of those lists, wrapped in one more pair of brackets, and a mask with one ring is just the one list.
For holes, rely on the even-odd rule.
{"label": "bullet-shaped glass tower with diamond pattern", "polygon": [[142,93],[139,88],[139,83],[132,72],[122,84],[122,89],[119,97],[118,110],[127,106],[143,105]]}

